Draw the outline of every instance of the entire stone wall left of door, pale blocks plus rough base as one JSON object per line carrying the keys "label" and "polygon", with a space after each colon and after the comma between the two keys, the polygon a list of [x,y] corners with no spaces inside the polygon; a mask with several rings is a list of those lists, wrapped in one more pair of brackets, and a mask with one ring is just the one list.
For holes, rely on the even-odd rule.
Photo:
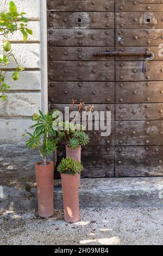
{"label": "entire stone wall left of door, pale blocks plus rough base", "polygon": [[[9,2],[10,0],[1,0],[0,11],[7,11]],[[36,150],[25,147],[22,133],[29,130],[32,115],[38,109],[47,111],[46,0],[14,2],[18,11],[26,12],[28,27],[33,29],[33,36],[30,35],[26,43],[20,33],[9,38],[18,63],[26,70],[21,72],[19,80],[13,81],[11,74],[15,63],[11,60],[8,67],[8,83],[11,89],[7,93],[8,100],[0,101],[0,190],[10,191],[9,198],[24,191],[26,196],[23,200],[28,205],[29,197],[35,201],[34,194],[28,191],[29,188],[36,187],[34,163],[40,160],[40,156]],[[2,42],[0,48],[2,49]],[[8,205],[7,198],[0,193],[0,210],[2,204],[7,208],[12,205],[12,199]],[[15,196],[14,200],[18,205],[19,196]]]}

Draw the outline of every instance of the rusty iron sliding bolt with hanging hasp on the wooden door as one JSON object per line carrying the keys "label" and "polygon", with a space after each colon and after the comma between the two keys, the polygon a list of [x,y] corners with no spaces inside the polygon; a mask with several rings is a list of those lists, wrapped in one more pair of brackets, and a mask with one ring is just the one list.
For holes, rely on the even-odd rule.
{"label": "rusty iron sliding bolt with hanging hasp on the wooden door", "polygon": [[154,53],[150,51],[144,51],[144,52],[123,52],[123,51],[117,51],[117,52],[95,52],[93,53],[93,56],[95,57],[112,57],[112,56],[147,56],[143,60],[143,73],[146,74],[149,71],[148,62],[149,60],[152,60],[154,58]]}

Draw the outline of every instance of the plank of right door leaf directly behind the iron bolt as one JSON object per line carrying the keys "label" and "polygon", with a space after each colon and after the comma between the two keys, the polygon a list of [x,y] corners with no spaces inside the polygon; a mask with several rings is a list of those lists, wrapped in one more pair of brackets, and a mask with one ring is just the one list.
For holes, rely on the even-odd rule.
{"label": "plank of right door leaf directly behind the iron bolt", "polygon": [[[116,51],[123,50],[124,52],[144,52],[151,51],[154,53],[153,60],[163,60],[163,48],[159,46],[134,46],[134,47],[116,47]],[[116,56],[116,60],[144,60],[145,56]],[[109,60],[109,59],[108,59]]]}

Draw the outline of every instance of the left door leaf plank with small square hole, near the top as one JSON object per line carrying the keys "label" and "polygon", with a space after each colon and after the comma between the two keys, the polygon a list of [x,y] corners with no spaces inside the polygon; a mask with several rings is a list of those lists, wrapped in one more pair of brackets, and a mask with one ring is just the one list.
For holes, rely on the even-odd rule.
{"label": "left door leaf plank with small square hole, near the top", "polygon": [[48,28],[55,29],[95,29],[95,28],[114,28],[114,13],[92,13],[92,12],[48,12]]}

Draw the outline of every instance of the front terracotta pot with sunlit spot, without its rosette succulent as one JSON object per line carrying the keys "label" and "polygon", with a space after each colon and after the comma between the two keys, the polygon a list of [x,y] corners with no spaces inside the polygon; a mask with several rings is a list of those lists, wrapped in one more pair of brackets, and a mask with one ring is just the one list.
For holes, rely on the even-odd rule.
{"label": "front terracotta pot with sunlit spot, without its rosette succulent", "polygon": [[78,174],[61,174],[66,222],[79,221]]}

